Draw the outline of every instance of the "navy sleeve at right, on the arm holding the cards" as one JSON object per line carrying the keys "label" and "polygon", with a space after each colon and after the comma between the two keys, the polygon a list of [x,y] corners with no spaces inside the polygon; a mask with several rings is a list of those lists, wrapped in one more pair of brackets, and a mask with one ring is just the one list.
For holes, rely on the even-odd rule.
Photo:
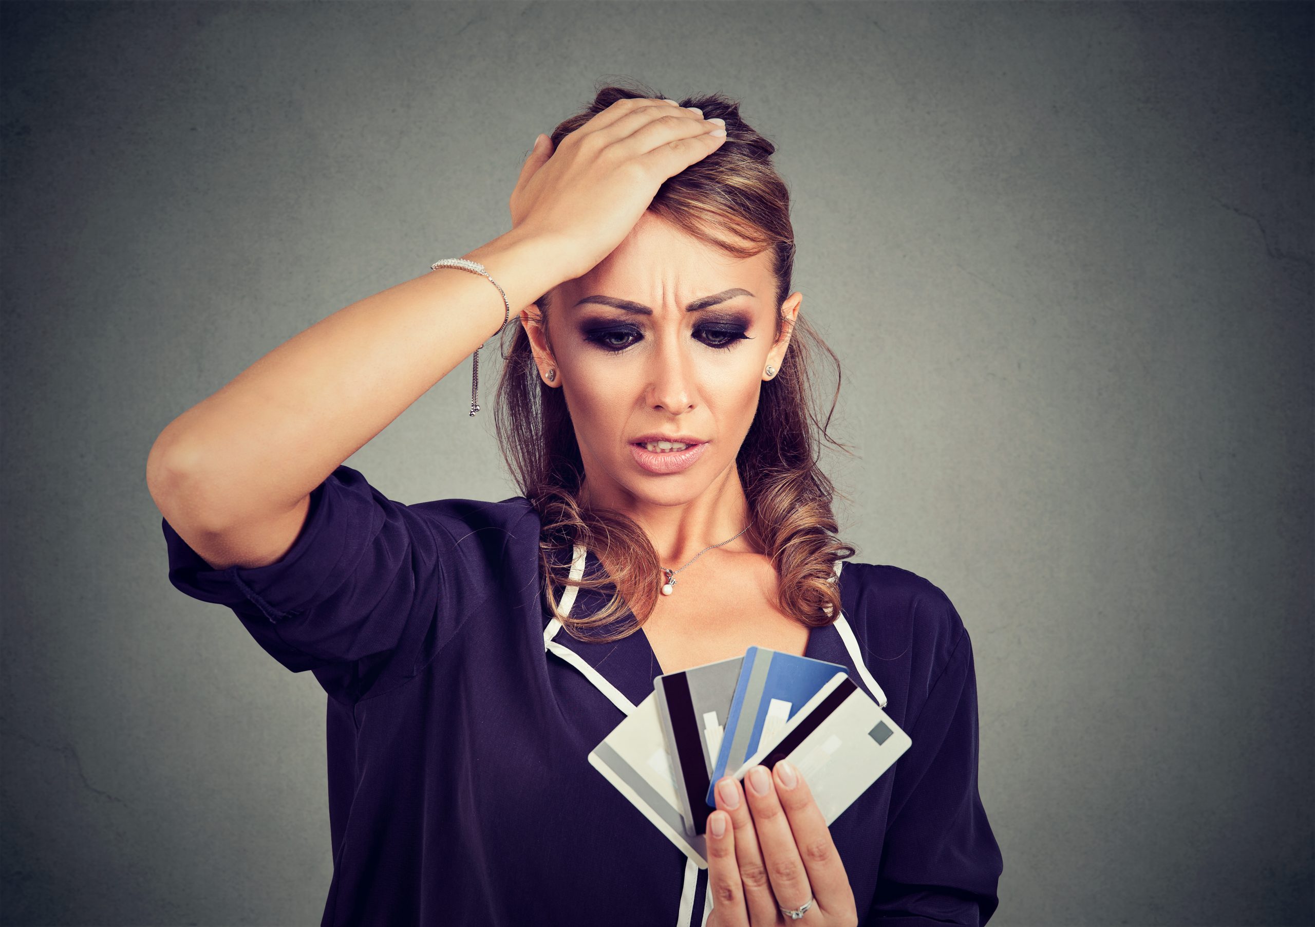
{"label": "navy sleeve at right, on the arm holding the cards", "polygon": [[981,927],[999,905],[1003,861],[977,790],[977,677],[967,629],[909,736],[863,923]]}

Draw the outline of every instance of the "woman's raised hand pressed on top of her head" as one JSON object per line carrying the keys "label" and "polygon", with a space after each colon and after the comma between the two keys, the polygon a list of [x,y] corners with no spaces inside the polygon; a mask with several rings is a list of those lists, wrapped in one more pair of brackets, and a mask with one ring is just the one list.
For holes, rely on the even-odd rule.
{"label": "woman's raised hand pressed on top of her head", "polygon": [[512,231],[563,249],[563,279],[584,276],[613,250],[667,178],[717,150],[721,120],[665,100],[623,97],[531,151],[512,191]]}

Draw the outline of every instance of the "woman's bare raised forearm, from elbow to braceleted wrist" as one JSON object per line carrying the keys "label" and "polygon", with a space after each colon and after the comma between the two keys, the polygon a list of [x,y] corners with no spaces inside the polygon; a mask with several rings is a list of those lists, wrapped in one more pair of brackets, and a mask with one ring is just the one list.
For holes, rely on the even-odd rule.
{"label": "woman's bare raised forearm, from elbow to braceleted wrist", "polygon": [[[462,255],[517,313],[562,283],[560,250],[501,235]],[[277,346],[160,433],[151,494],[210,530],[287,511],[484,343],[506,314],[483,275],[426,271]]]}

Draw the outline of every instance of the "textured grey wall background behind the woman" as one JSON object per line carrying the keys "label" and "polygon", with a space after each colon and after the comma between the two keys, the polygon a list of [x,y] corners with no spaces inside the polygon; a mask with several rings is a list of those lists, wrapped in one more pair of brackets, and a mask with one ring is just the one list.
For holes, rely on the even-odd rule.
{"label": "textured grey wall background behind the woman", "polygon": [[[973,635],[995,923],[1311,923],[1311,9],[5,3],[4,922],[318,923],[325,697],[168,584],[146,452],[631,75],[780,146],[846,536]],[[514,494],[468,389],[348,463]]]}

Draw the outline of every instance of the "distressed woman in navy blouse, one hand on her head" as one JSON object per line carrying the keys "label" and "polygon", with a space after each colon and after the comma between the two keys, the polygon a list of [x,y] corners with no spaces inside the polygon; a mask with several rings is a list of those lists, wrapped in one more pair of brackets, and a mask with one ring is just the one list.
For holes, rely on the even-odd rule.
{"label": "distressed woman in navy blouse, one hand on her head", "polygon": [[[692,103],[604,88],[535,141],[475,272],[334,313],[151,450],[171,581],[330,696],[323,924],[995,910],[968,634],[927,580],[840,569],[775,149]],[[402,505],[341,465],[515,309],[521,496]],[[851,668],[913,747],[830,828],[786,764],[722,780],[704,870],[586,755],[655,676],[751,644]]]}

